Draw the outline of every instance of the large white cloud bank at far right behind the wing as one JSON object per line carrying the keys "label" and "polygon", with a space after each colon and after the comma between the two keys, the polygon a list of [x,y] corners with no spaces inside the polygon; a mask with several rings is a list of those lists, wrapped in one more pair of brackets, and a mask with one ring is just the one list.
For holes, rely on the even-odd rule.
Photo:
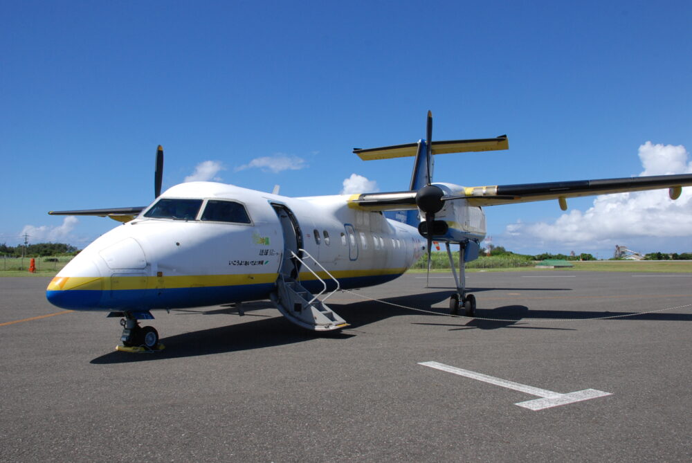
{"label": "large white cloud bank at far right behind the wing", "polygon": [[[648,141],[639,147],[639,159],[644,167],[640,176],[690,173],[692,162],[688,158],[689,153],[682,145],[654,145]],[[531,247],[570,246],[592,250],[634,242],[646,246],[646,240],[652,239],[660,246],[662,239],[690,235],[692,188],[683,188],[676,201],[668,198],[667,189],[604,194],[596,197],[593,206],[585,212],[574,209],[552,223],[517,221],[505,228],[508,244],[512,242],[512,246],[519,248],[523,242],[531,243]]]}

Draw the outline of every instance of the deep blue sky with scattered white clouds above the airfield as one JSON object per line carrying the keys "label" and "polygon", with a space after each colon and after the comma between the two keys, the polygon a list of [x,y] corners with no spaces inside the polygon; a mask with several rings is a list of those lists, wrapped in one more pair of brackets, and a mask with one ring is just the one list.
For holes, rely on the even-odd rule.
{"label": "deep blue sky with scattered white clouds above the airfield", "polygon": [[[46,212],[146,205],[158,144],[164,188],[211,161],[211,178],[289,196],[336,194],[352,174],[402,190],[412,159],[366,163],[352,148],[424,138],[428,109],[433,139],[510,141],[436,156],[437,181],[639,175],[642,158],[692,172],[688,1],[22,1],[0,12],[0,243],[26,232],[82,247],[118,226]],[[522,253],[692,251],[690,193],[675,206],[658,193],[574,200],[567,214],[556,201],[486,208],[488,233]]]}

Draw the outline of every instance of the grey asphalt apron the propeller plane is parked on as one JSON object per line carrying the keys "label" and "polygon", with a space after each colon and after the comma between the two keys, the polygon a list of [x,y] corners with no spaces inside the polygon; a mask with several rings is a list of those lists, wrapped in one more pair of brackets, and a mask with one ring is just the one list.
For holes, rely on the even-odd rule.
{"label": "grey asphalt apron the propeller plane is parked on", "polygon": [[[118,318],[51,306],[47,278],[0,278],[0,461],[692,459],[692,274],[471,273],[478,319],[432,276],[336,293],[336,335],[268,302],[155,312],[156,354],[115,352]],[[516,405],[589,389],[609,395]]]}

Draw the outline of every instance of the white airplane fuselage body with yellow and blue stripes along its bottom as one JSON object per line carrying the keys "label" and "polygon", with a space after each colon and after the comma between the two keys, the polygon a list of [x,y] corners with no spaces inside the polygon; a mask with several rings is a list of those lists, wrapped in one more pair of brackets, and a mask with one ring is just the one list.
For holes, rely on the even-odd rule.
{"label": "white airplane fuselage body with yellow and blue stripes along its bottom", "polygon": [[[242,203],[251,224],[152,219],[144,217],[145,209],[96,239],[65,266],[48,287],[51,302],[82,310],[145,310],[268,298],[284,255],[284,230],[274,205],[291,210],[300,226],[302,248],[342,287],[392,280],[426,248],[416,228],[386,219],[380,212],[351,208],[348,195],[289,198],[191,182],[170,188],[161,198]],[[301,269],[300,278],[309,283],[313,277]],[[175,296],[172,289],[178,291]],[[89,291],[80,290],[92,291],[91,299],[84,298],[89,300],[84,307],[74,298]],[[94,296],[93,290],[103,296]],[[72,294],[66,295],[68,291]],[[69,301],[61,302],[59,293],[70,296]],[[96,297],[98,305],[92,301]]]}

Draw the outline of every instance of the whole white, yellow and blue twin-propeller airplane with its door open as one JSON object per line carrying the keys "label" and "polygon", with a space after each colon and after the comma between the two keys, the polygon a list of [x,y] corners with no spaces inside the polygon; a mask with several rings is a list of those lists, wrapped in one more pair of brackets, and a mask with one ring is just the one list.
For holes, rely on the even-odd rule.
{"label": "whole white, yellow and blue twin-propeller airplane with its door open", "polygon": [[[149,206],[49,212],[124,223],[71,260],[46,297],[64,309],[122,318],[116,348],[127,352],[163,349],[156,329],[138,321],[154,318],[154,309],[270,299],[295,325],[334,331],[348,326],[325,303],[334,291],[394,280],[434,239],[444,242],[454,273],[450,310],[473,316],[464,266],[478,257],[485,237],[484,206],[554,199],[565,210],[572,197],[659,188],[677,199],[683,186],[692,185],[692,174],[475,187],[433,183],[433,156],[509,149],[509,141],[504,135],[431,140],[428,112],[424,140],[354,149],[364,161],[415,156],[408,190],[295,198],[201,181],[161,193],[159,146]],[[459,275],[450,244],[459,245]]]}

